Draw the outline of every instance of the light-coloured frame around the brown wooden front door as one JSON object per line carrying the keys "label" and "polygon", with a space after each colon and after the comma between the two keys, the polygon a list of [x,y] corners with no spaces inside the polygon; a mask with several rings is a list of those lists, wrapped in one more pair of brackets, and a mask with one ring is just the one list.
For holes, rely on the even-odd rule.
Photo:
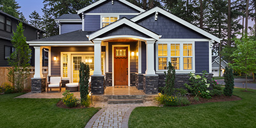
{"label": "light-coloured frame around the brown wooden front door", "polygon": [[114,47],[128,47],[128,86],[130,86],[130,45],[112,45],[112,86],[115,86],[115,77],[114,77]]}

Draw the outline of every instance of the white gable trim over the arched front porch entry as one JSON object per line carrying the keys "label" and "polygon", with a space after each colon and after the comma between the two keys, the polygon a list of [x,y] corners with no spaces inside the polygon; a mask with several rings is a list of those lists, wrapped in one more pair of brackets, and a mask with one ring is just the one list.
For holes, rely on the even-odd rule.
{"label": "white gable trim over the arched front porch entry", "polygon": [[158,40],[159,38],[161,38],[161,35],[157,35],[156,33],[154,33],[153,31],[150,31],[147,28],[144,28],[143,26],[140,26],[134,22],[132,22],[131,20],[127,19],[127,18],[122,18],[116,22],[113,22],[112,24],[109,24],[108,26],[101,28],[97,31],[95,31],[94,33],[90,34],[88,36],[89,40],[93,40],[94,38],[97,38],[97,36],[100,36],[104,33],[107,33],[108,31],[111,31],[112,29],[117,28],[118,26],[121,26],[123,24],[126,24],[127,26],[136,29],[137,31],[142,31],[145,35],[148,35],[152,38],[154,38],[155,40]]}

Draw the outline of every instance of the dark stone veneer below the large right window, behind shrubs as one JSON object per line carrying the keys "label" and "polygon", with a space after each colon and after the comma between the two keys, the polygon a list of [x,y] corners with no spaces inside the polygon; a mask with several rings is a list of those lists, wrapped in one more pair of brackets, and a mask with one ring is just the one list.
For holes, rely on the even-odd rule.
{"label": "dark stone veneer below the large right window, behind shrubs", "polygon": [[[159,87],[164,87],[165,86],[165,79],[166,77],[164,74],[158,74],[159,75],[159,82],[158,85]],[[200,75],[202,76],[202,73],[197,73],[195,75]],[[213,74],[206,74],[205,77],[211,81]],[[175,88],[185,88],[184,84],[187,83],[189,84],[189,74],[176,74],[175,76]]]}

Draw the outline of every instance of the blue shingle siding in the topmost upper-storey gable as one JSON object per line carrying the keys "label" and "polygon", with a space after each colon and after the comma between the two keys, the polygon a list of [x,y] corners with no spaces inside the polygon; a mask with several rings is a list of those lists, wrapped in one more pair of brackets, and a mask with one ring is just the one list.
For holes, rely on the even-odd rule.
{"label": "blue shingle siding in the topmost upper-storey gable", "polygon": [[140,12],[120,1],[114,0],[114,4],[112,5],[111,0],[108,0],[86,11],[85,13],[140,13]]}

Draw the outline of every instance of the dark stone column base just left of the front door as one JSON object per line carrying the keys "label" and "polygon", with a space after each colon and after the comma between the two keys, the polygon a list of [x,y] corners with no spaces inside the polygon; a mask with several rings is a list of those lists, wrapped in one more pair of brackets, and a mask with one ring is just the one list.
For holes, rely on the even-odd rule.
{"label": "dark stone column base just left of the front door", "polygon": [[104,76],[91,76],[91,91],[93,94],[104,94]]}

